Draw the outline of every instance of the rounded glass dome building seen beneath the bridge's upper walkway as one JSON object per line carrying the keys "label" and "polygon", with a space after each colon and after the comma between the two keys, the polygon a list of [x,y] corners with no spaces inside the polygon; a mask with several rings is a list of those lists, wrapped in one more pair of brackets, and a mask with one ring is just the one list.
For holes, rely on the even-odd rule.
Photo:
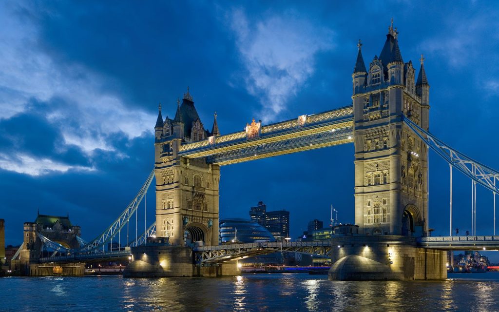
{"label": "rounded glass dome building seen beneath the bridge's upper walkway", "polygon": [[[220,220],[220,243],[275,242],[275,238],[263,226],[250,220],[231,218]],[[237,230],[237,231],[236,231]]]}

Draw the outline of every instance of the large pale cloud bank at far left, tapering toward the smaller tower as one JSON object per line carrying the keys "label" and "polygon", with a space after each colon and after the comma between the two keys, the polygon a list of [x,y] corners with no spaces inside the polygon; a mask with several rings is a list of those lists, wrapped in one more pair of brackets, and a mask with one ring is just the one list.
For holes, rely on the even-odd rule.
{"label": "large pale cloud bank at far left, tapering toward the smaller tower", "polygon": [[[128,139],[139,137],[143,132],[151,133],[155,114],[139,107],[127,107],[125,100],[103,88],[103,85],[117,84],[114,79],[82,63],[58,62],[47,54],[41,44],[36,17],[42,14],[40,12],[47,12],[34,6],[0,3],[0,28],[3,29],[0,34],[0,121],[28,115],[35,121],[42,120],[43,130],[50,130],[49,133],[40,132],[40,128],[28,120],[21,125],[29,131],[25,128],[15,133],[5,132],[2,139],[8,137],[12,144],[22,145],[15,141],[23,137],[32,142],[25,146],[29,150],[40,152],[37,148],[43,147],[50,152],[44,153],[43,159],[26,155],[3,157],[1,168],[32,175],[87,168],[65,165],[53,158],[57,153],[51,150],[60,152],[76,146],[91,159],[97,149],[114,151],[113,137],[118,133]],[[13,126],[8,127],[12,130]],[[46,144],[45,141],[55,135],[58,135],[57,144]],[[39,166],[32,163],[35,159],[40,161]],[[20,165],[29,168],[23,170]]]}

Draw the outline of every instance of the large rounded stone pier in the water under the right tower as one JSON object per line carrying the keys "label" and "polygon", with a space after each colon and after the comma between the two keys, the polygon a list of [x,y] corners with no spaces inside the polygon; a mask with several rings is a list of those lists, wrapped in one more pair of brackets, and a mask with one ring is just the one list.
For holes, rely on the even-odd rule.
{"label": "large rounded stone pier in the water under the right tower", "polygon": [[[416,238],[353,236],[332,239],[330,280],[445,280],[447,253],[420,248]],[[339,246],[339,248],[337,247]]]}

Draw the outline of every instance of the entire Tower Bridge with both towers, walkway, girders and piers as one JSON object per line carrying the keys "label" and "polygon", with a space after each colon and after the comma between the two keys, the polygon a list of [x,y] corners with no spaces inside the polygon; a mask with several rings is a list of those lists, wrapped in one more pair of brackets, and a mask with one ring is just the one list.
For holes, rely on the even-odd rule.
{"label": "entire Tower Bridge with both towers, walkway, girders and piers", "polygon": [[[350,106],[270,125],[252,120],[244,131],[221,135],[217,114],[212,130],[205,129],[189,89],[182,101],[177,101],[173,119],[163,118],[160,105],[154,128],[153,172],[120,217],[93,241],[68,249],[69,257],[102,257],[103,244],[120,235],[125,225],[128,229],[153,178],[154,236],[152,230],[146,231],[143,244],[129,245],[133,247],[133,261],[126,270],[129,276],[237,274],[235,260],[282,249],[331,257],[331,279],[444,279],[444,250],[498,249],[495,232],[476,235],[476,185],[495,196],[499,172],[451,148],[429,131],[430,85],[423,56],[416,76],[413,62],[402,58],[393,24],[379,56],[375,55],[368,67],[361,46],[359,40]],[[354,211],[355,224],[363,229],[361,235],[311,245],[219,245],[221,166],[345,143],[353,143],[355,149]],[[452,204],[451,236],[441,240],[429,237],[430,149],[449,163],[451,181],[452,168],[472,181],[473,231],[466,240],[452,237]],[[184,247],[186,238],[203,241],[205,246]],[[193,259],[197,269],[193,269]],[[202,269],[209,264],[216,264],[217,271]]]}

